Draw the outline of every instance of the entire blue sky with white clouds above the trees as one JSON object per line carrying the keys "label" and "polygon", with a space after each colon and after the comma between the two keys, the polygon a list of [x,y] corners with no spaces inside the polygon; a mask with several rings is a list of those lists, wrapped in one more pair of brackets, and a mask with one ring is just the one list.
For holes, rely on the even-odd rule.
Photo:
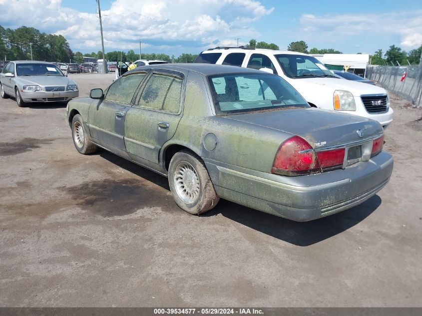
{"label": "entire blue sky with white clouds above the trees", "polygon": [[[138,52],[139,39],[142,52],[170,56],[236,45],[237,37],[239,44],[255,38],[282,50],[304,40],[309,48],[344,53],[422,44],[422,1],[416,0],[101,0],[101,11],[106,51]],[[95,0],[0,0],[0,21],[62,34],[74,52],[101,48]]]}

